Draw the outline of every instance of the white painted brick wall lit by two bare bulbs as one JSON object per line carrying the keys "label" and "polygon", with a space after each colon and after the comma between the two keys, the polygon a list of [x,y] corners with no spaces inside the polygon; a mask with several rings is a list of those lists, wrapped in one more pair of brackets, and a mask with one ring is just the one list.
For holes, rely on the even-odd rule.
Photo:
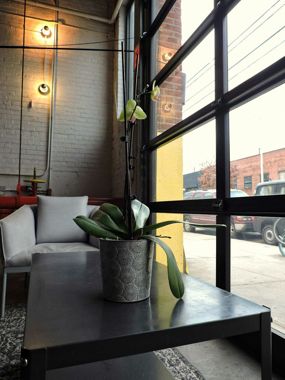
{"label": "white painted brick wall lit by two bare bulbs", "polygon": [[[59,6],[100,17],[111,17],[114,0],[60,1]],[[6,12],[15,13],[11,15]],[[2,44],[22,45],[24,6],[0,3]],[[27,16],[53,20],[54,11],[27,6]],[[58,44],[86,44],[88,48],[117,48],[114,25],[59,13]],[[26,18],[25,44],[44,46],[38,32],[52,23]],[[63,25],[65,24],[65,25]],[[47,40],[52,43],[54,35]],[[111,41],[111,42],[102,42]],[[82,47],[80,45],[74,47]],[[113,52],[57,51],[52,138],[51,189],[53,195],[111,196],[113,128]],[[52,51],[46,50],[46,84],[51,84]],[[47,140],[51,96],[41,95],[44,50],[27,49],[24,57],[22,108],[21,184],[47,165]],[[22,49],[0,50],[0,185],[16,189],[19,170]],[[32,101],[32,107],[28,104]],[[15,174],[15,175],[12,175]],[[48,171],[39,177],[47,183]],[[6,192],[9,195],[9,192]],[[15,193],[11,193],[15,195]],[[25,195],[25,194],[24,194]],[[120,194],[119,194],[120,195]],[[119,196],[117,195],[117,196]]]}

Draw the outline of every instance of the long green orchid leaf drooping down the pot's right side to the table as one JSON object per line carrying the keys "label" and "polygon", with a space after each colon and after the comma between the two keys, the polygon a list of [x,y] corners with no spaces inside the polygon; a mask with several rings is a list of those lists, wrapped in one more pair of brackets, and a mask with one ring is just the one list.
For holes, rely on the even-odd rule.
{"label": "long green orchid leaf drooping down the pot's right side to the table", "polygon": [[174,297],[182,298],[184,294],[184,283],[172,250],[168,247],[167,244],[158,239],[156,236],[142,235],[141,239],[152,240],[160,245],[160,247],[165,251],[167,256],[167,271],[170,290]]}

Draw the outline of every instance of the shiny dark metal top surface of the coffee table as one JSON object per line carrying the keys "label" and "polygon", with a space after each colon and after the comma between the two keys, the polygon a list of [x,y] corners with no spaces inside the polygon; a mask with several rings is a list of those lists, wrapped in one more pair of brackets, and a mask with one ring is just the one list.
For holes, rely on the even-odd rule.
{"label": "shiny dark metal top surface of the coffee table", "polygon": [[[150,297],[121,303],[103,299],[98,252],[36,253],[32,258],[23,347],[136,337],[268,312],[266,307],[182,274],[176,299],[167,267],[154,261]],[[169,346],[170,347],[170,346]]]}

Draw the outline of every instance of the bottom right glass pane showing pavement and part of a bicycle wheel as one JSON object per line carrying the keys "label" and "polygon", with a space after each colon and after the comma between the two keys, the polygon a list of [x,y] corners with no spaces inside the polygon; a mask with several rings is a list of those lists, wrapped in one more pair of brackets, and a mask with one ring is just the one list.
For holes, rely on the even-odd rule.
{"label": "bottom right glass pane showing pavement and part of a bicycle wheel", "polygon": [[[232,217],[234,218],[234,217]],[[239,217],[236,217],[239,218]],[[252,217],[254,232],[231,239],[231,292],[271,308],[272,328],[285,332],[285,245],[277,246],[273,226],[277,218]],[[282,225],[281,225],[282,224]],[[277,225],[284,235],[285,219]]]}

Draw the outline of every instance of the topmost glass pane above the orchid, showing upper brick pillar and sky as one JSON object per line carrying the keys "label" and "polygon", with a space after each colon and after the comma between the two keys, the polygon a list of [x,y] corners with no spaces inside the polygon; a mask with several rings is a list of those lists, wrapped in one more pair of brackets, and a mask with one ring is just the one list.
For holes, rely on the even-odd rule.
{"label": "topmost glass pane above the orchid, showing upper brick pillar and sky", "polygon": [[[154,3],[154,17],[156,17],[164,1],[156,0]],[[176,1],[154,35],[154,46],[157,47],[157,64],[154,68],[154,76],[204,21],[212,11],[213,6],[213,0],[203,0],[203,2]]]}

